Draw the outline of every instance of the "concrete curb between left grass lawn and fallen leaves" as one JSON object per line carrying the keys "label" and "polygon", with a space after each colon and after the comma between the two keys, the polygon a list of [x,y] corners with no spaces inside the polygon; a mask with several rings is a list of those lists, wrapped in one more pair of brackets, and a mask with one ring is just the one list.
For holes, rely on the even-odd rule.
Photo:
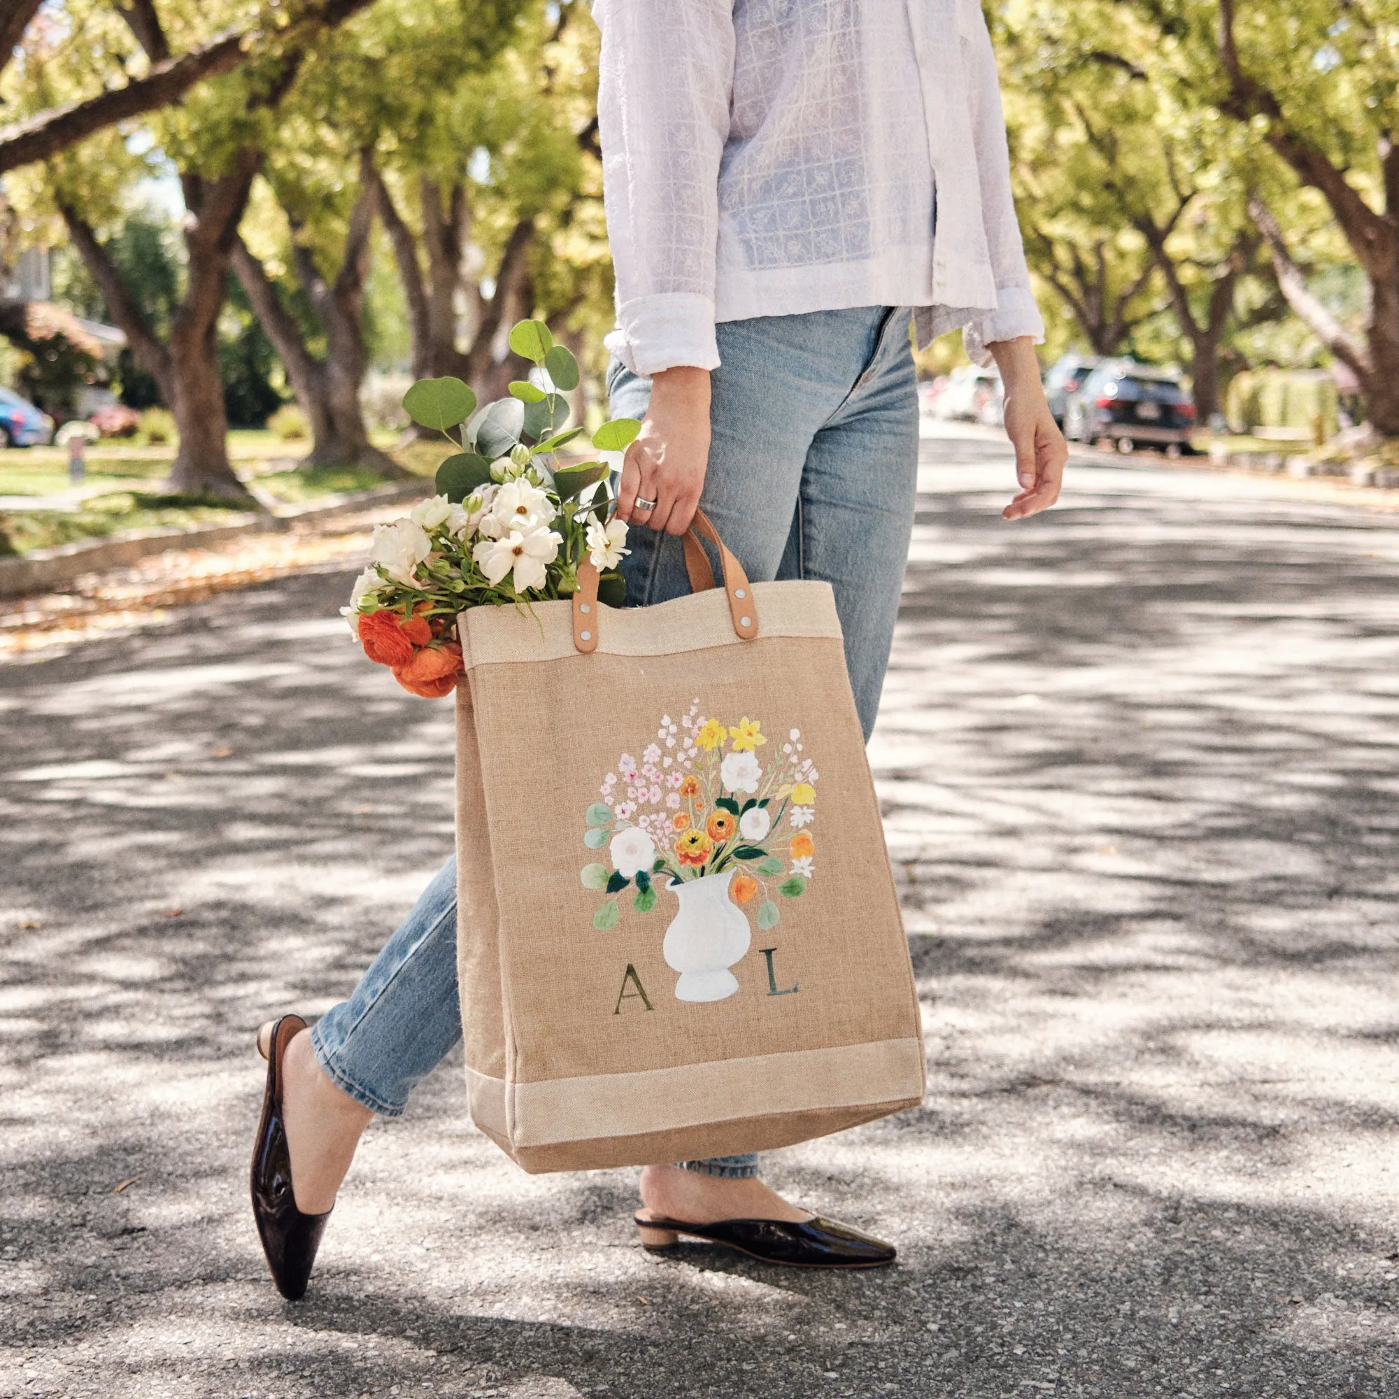
{"label": "concrete curb between left grass lawn and fallen leaves", "polygon": [[228,525],[133,530],[92,544],[60,544],[57,548],[35,550],[24,558],[0,558],[0,597],[22,597],[25,593],[49,592],[60,583],[71,582],[81,574],[92,574],[104,568],[122,568],[150,558],[152,554],[165,554],[176,548],[201,548],[207,544],[222,544],[225,540],[238,539],[242,534],[291,529],[306,519],[334,519],[337,515],[353,515],[375,505],[396,505],[399,501],[421,499],[431,490],[432,481],[424,477],[421,481],[376,485],[368,491],[350,491],[325,501],[294,505],[277,515],[238,515]]}

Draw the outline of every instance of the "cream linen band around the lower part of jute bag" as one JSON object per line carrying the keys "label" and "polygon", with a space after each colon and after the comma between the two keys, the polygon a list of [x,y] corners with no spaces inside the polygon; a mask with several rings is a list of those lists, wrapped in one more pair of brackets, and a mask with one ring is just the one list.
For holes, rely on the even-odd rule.
{"label": "cream linen band around the lower part of jute bag", "polygon": [[[471,1118],[505,1136],[506,1084],[474,1069],[466,1076]],[[513,1130],[508,1136],[513,1146],[639,1136],[775,1112],[919,1098],[923,1044],[879,1039],[679,1069],[516,1083],[509,1091]]]}

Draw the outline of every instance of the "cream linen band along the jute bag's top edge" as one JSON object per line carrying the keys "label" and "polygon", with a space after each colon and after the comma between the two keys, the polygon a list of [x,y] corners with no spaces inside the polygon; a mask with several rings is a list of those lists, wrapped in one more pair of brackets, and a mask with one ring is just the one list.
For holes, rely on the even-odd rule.
{"label": "cream linen band along the jute bag's top edge", "polygon": [[[841,639],[835,593],[830,583],[816,579],[754,583],[753,602],[758,610],[760,639]],[[513,607],[469,607],[462,613],[457,631],[466,669],[576,656],[572,603],[534,603],[533,610],[537,624],[523,609],[516,613]],[[718,588],[653,607],[597,609],[597,651],[613,656],[669,656],[729,645],[743,646],[747,642],[734,634],[729,599]]]}

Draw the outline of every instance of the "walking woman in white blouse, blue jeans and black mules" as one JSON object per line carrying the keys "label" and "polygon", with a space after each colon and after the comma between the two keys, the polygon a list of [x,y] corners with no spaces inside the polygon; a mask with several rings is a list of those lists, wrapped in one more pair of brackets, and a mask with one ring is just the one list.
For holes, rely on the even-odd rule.
{"label": "walking woman in white blouse, blue jeans and black mules", "polygon": [[[644,417],[620,481],[638,526],[628,604],[688,592],[702,505],[754,581],[835,590],[865,734],[914,519],[918,343],[963,326],[1006,386],[1024,519],[1066,449],[1039,386],[1042,323],[1010,196],[977,0],[596,0],[614,414]],[[936,229],[936,235],[935,235]],[[253,1203],[299,1297],[376,1115],[460,1038],[449,863],[350,1000],[264,1027]],[[870,1266],[894,1249],[771,1191],[751,1156],[648,1165],[644,1241],[676,1233],[772,1262]]]}

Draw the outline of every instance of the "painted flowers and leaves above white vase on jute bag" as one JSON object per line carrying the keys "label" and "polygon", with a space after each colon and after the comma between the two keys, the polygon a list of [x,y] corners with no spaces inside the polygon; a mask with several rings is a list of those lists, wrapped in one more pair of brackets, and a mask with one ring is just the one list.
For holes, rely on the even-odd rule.
{"label": "painted flowers and leaves above white vase on jute bag", "polygon": [[617,926],[620,900],[649,914],[656,887],[727,872],[729,898],[757,901],[757,925],[776,925],[776,898],[799,898],[814,876],[816,782],[800,729],[785,739],[748,715],[711,719],[694,700],[679,722],[665,715],[639,760],[624,753],[586,811],[583,844],[606,846],[611,867],[585,865],[583,887],[606,894],[593,928]]}

